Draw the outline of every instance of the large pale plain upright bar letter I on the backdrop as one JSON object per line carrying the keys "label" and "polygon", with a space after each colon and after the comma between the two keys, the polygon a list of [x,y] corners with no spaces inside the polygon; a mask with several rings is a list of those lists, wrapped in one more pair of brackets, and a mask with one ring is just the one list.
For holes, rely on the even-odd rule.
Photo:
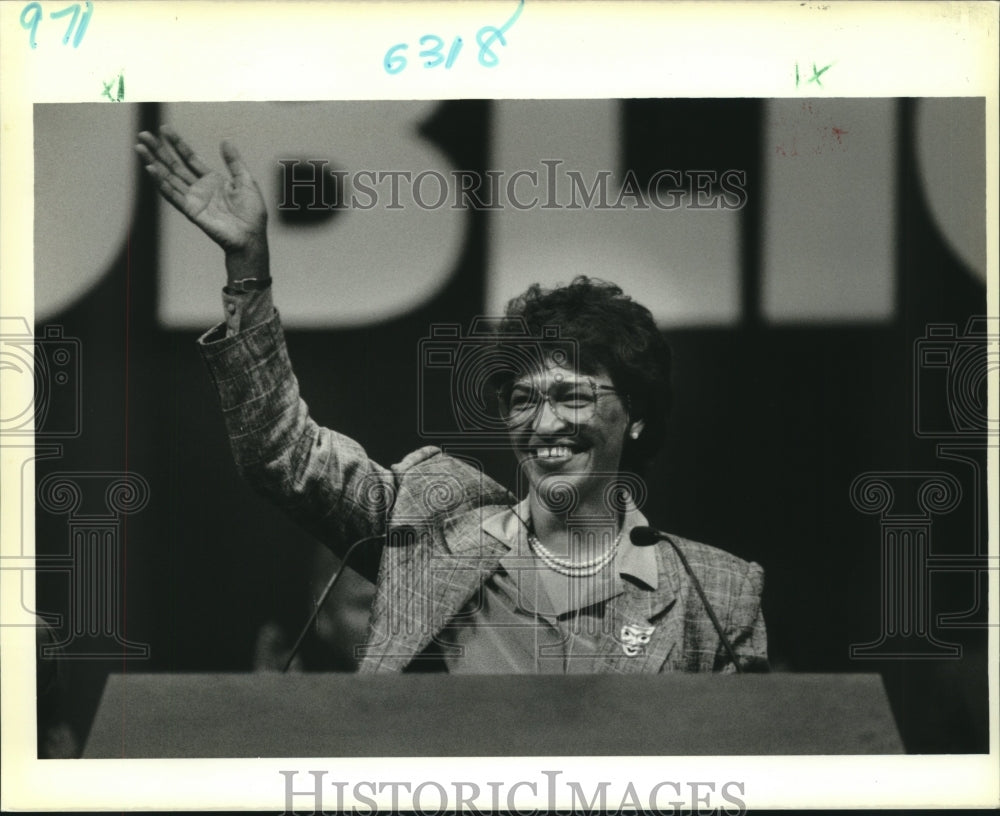
{"label": "large pale plain upright bar letter I on the backdrop", "polygon": [[761,305],[770,321],[891,317],[895,110],[891,99],[768,102]]}

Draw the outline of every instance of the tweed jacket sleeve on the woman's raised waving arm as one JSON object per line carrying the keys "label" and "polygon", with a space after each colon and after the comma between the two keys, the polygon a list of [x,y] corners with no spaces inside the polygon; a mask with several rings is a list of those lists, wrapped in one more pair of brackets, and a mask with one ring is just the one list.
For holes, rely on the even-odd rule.
{"label": "tweed jacket sleeve on the woman's raised waving arm", "polygon": [[[199,344],[247,482],[338,555],[385,533],[395,477],[357,442],[309,416],[278,313],[237,333],[220,324]],[[377,558],[364,560],[366,574],[377,567]]]}

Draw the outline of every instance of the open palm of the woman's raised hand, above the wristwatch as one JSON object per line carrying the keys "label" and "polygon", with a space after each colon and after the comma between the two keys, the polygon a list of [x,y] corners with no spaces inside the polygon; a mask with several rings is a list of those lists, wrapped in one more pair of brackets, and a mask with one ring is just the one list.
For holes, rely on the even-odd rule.
{"label": "open palm of the woman's raised hand, above the wristwatch", "polygon": [[206,165],[174,130],[143,131],[136,152],[167,201],[227,252],[263,240],[267,209],[257,182],[231,142],[221,144],[229,173]]}

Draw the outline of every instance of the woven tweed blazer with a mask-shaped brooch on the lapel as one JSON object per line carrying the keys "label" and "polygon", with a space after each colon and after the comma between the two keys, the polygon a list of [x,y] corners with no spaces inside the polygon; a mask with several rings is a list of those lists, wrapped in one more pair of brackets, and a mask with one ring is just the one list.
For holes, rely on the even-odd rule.
{"label": "woven tweed blazer with a mask-shaped brooch on the lapel", "polygon": [[[354,440],[314,422],[299,396],[277,313],[226,336],[199,341],[215,381],[239,472],[334,552],[383,539],[352,566],[375,582],[361,672],[402,671],[436,638],[510,545],[483,531],[514,497],[474,462],[424,447],[386,468]],[[729,553],[674,537],[745,670],[766,670],[761,613],[763,570]],[[673,547],[655,545],[655,590],[626,583],[609,600],[599,671],[735,671]],[[648,642],[625,649],[625,626],[652,627]]]}

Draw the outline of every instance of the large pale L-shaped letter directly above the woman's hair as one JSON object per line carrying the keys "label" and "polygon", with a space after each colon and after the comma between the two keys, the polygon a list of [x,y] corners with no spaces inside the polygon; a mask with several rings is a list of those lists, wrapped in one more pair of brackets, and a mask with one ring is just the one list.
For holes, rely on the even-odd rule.
{"label": "large pale L-shaped letter directly above the woman's hair", "polygon": [[[599,174],[610,173],[608,200],[617,201],[623,181],[619,101],[504,101],[496,107],[493,167],[508,177],[537,172],[540,201],[531,209],[508,206],[493,214],[489,312],[502,311],[507,298],[536,281],[552,286],[586,274],[619,284],[648,306],[661,326],[737,321],[739,210],[639,209],[631,199],[617,210],[541,206],[548,200],[549,166],[556,170],[556,195],[564,204],[572,192],[567,172],[578,173],[587,190]],[[520,199],[529,199],[530,187],[523,185]],[[667,196],[662,200],[670,203]]]}

